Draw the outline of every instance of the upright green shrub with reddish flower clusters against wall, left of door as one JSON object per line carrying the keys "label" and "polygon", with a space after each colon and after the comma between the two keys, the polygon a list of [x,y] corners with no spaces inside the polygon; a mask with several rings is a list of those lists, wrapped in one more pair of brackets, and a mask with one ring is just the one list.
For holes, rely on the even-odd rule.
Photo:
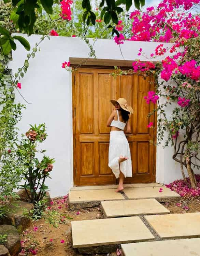
{"label": "upright green shrub with reddish flower clusters against wall, left of door", "polygon": [[[30,126],[31,128],[26,132],[26,137],[22,135],[17,154],[19,161],[25,167],[23,172],[25,184],[21,185],[21,187],[26,190],[30,202],[37,206],[46,195],[48,186],[45,185],[45,180],[50,178],[49,172],[52,171],[55,161],[44,155],[46,150],[37,150],[38,143],[43,142],[47,136],[45,124]],[[41,161],[36,157],[38,153],[44,155]]]}

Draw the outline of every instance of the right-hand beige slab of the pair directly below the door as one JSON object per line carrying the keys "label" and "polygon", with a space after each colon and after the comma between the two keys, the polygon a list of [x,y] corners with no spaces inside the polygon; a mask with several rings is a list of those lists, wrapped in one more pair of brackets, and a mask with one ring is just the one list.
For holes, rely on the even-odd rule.
{"label": "right-hand beige slab of the pair directly below the door", "polygon": [[[162,188],[162,192],[159,192],[160,187]],[[165,186],[125,188],[124,193],[129,199],[166,198],[169,200],[170,198],[174,199],[180,197],[180,195]]]}

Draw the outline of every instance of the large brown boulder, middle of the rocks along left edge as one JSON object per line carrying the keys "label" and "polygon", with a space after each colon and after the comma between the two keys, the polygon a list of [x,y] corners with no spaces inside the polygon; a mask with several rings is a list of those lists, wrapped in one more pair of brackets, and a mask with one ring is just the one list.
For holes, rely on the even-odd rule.
{"label": "large brown boulder, middle of the rocks along left edge", "polygon": [[30,211],[34,209],[33,204],[15,201],[8,206],[8,211],[5,217],[0,220],[0,224],[13,225],[15,226],[19,233],[26,230],[30,226],[31,220],[24,215],[24,209]]}

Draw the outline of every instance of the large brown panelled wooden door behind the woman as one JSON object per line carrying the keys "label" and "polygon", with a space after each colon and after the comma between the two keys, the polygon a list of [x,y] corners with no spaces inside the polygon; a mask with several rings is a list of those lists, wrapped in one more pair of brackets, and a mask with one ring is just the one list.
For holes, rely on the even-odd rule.
{"label": "large brown panelled wooden door behind the woman", "polygon": [[108,167],[110,127],[106,127],[113,106],[110,99],[126,98],[133,107],[131,133],[127,138],[132,158],[132,178],[126,183],[155,181],[155,131],[147,124],[153,106],[147,105],[144,96],[153,85],[141,75],[110,76],[113,70],[80,68],[73,73],[73,145],[74,184],[116,184]]}

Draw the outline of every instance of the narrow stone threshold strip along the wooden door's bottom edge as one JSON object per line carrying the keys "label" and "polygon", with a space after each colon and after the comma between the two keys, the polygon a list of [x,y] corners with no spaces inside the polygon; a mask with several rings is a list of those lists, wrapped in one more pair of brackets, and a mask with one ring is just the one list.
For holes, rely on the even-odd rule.
{"label": "narrow stone threshold strip along the wooden door's bottom edge", "polygon": [[[71,187],[70,191],[112,189],[112,188],[117,188],[117,186],[118,185],[80,186],[80,187]],[[163,185],[160,184],[160,183],[124,184],[124,188],[130,188],[130,187],[157,187],[157,186],[163,186]]]}

